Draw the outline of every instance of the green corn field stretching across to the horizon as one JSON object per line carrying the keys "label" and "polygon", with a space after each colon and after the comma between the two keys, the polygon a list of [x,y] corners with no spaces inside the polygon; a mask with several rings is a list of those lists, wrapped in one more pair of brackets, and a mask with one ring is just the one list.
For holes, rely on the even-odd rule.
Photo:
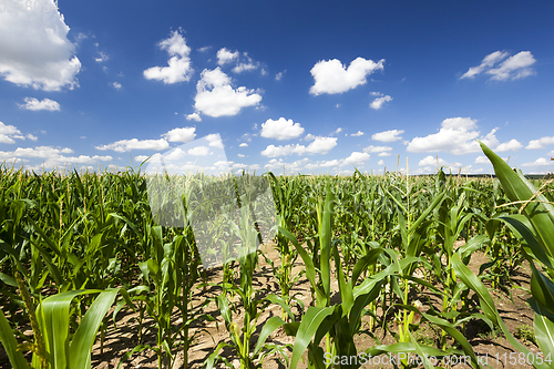
{"label": "green corn field stretching across to the horizon", "polygon": [[[205,229],[214,260],[237,245],[246,250],[220,266],[220,280],[211,277],[198,234],[186,223],[193,205],[178,215],[183,226],[161,225],[140,171],[38,175],[2,167],[0,340],[8,367],[91,368],[93,346],[100,342],[102,351],[105,337],[129,325],[135,344],[119,352],[119,367],[151,352],[158,368],[176,367],[177,355],[187,368],[201,337],[212,339],[203,327],[219,321],[228,339],[206,355],[202,366],[208,369],[264,368],[269,358],[293,369],[360,368],[328,358],[398,352],[459,355],[485,368],[465,335],[466,325],[479,320],[533,358],[535,368],[552,368],[554,183],[527,181],[481,147],[496,178],[443,170],[420,177],[264,174],[274,219],[253,223],[252,209],[243,206]],[[264,233],[270,237],[253,247]],[[267,244],[277,258],[268,257]],[[475,274],[469,264],[478,252],[490,263]],[[529,305],[538,356],[506,328],[490,294],[510,285],[522,263],[532,271]],[[254,279],[261,273],[274,283],[259,289]],[[295,294],[301,280],[309,284],[307,303]],[[204,299],[193,298],[198,291]],[[428,304],[423,291],[440,303]],[[261,318],[270,307],[279,314]],[[133,319],[123,321],[127,315]],[[423,322],[440,332],[437,342],[416,339]],[[379,344],[378,329],[394,342]],[[277,331],[290,344],[273,341]],[[361,349],[361,336],[376,345]],[[434,366],[428,359],[420,365]],[[408,360],[397,366],[414,367]]]}

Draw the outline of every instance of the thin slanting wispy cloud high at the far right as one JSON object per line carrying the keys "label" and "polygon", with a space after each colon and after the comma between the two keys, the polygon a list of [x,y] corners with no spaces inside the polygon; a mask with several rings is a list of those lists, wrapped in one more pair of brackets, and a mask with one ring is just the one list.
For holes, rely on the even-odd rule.
{"label": "thin slanting wispy cloud high at the far right", "polygon": [[510,58],[507,55],[510,54],[505,51],[495,51],[486,55],[480,65],[470,68],[460,79],[473,79],[484,72],[491,75],[491,81],[507,81],[535,73],[531,65],[536,60],[530,51],[521,51]]}

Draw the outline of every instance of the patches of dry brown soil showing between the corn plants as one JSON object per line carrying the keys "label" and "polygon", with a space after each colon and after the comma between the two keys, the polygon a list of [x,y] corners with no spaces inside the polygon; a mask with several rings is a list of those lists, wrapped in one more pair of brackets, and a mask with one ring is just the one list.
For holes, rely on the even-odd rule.
{"label": "patches of dry brown soil showing between the corn plants", "polygon": [[[460,246],[460,242],[456,244],[456,246]],[[267,255],[269,258],[275,260],[276,266],[279,264],[279,256],[278,252],[275,248],[275,244],[269,244],[267,248],[261,246],[263,249],[266,250]],[[470,269],[474,273],[479,273],[479,267],[488,263],[489,258],[481,252],[474,253],[471,258],[471,263],[469,265]],[[259,268],[255,274],[255,285],[256,286],[268,286],[273,293],[279,294],[279,288],[277,280],[275,279],[271,268],[269,265],[265,263],[263,258],[259,259]],[[298,273],[301,268],[304,267],[304,264],[300,258],[298,258],[297,263],[295,264],[295,273]],[[212,270],[212,276],[209,278],[211,283],[218,283],[222,280],[222,269],[214,269]],[[519,287],[523,287],[525,289],[530,289],[530,268],[526,263],[524,263],[522,266],[520,266],[514,275],[512,276],[512,280],[514,281],[514,285]],[[338,293],[338,283],[335,280],[331,284],[331,288],[334,289],[335,293]],[[512,332],[512,335],[515,336],[517,331],[517,327],[521,327],[523,325],[526,325],[527,327],[533,328],[533,316],[534,312],[533,310],[529,307],[526,299],[530,297],[530,295],[525,291],[525,289],[521,288],[511,288],[511,293],[513,296],[513,303],[510,300],[509,297],[506,297],[505,293],[496,291],[490,289],[491,295],[493,296],[493,299],[495,300],[496,308],[501,312],[502,319],[504,320],[504,324],[509,328],[509,330]],[[197,299],[198,301],[205,299],[206,297],[214,297],[218,290],[213,287],[208,289],[207,291],[203,291],[202,289],[197,289],[194,294],[194,298]],[[306,279],[306,277],[302,277],[298,284],[295,286],[294,290],[291,291],[293,294],[299,294],[300,299],[304,301],[305,306],[309,306],[311,297],[310,297],[310,289],[309,289],[309,281]],[[430,298],[430,301],[433,304],[435,309],[440,310],[440,303],[437,298],[437,296],[433,296],[429,291],[422,290],[421,296],[417,296],[416,299],[420,299],[423,303],[423,308],[422,311],[427,310],[425,307],[425,296]],[[338,296],[335,296],[335,301],[338,298]],[[222,341],[227,341],[229,342],[229,336],[225,329],[225,325],[223,322],[223,318],[218,314],[217,307],[215,306],[214,303],[211,303],[208,308],[206,309],[206,312],[212,314],[216,320],[216,322],[209,322],[203,328],[206,328],[209,335],[207,334],[202,334],[195,345],[189,349],[188,351],[188,367],[189,368],[202,368],[204,360],[213,352],[215,347],[222,342]],[[296,311],[295,311],[296,312]],[[378,314],[380,314],[378,311]],[[258,320],[258,331],[260,327],[265,324],[265,321],[275,315],[280,315],[280,307],[278,306],[270,306],[266,311],[263,312]],[[93,352],[92,352],[92,368],[101,368],[101,369],[107,369],[107,368],[116,368],[117,363],[121,359],[121,357],[131,350],[133,347],[137,345],[137,322],[132,321],[129,322],[130,319],[134,318],[136,314],[124,314],[120,312],[117,315],[117,328],[114,329],[113,325],[110,326],[105,340],[104,340],[104,348],[103,352],[101,353],[100,350],[100,340],[96,340],[94,347],[93,347]],[[237,324],[242,324],[244,315],[239,316],[234,316],[234,321]],[[363,319],[367,321],[368,319]],[[145,326],[147,327],[148,319],[145,319]],[[111,322],[111,319],[110,319]],[[181,316],[178,311],[175,311],[174,317],[173,317],[173,322],[177,326],[182,322]],[[218,326],[218,328],[217,328]],[[202,327],[199,327],[202,328]],[[195,329],[199,329],[195,328]],[[516,366],[511,366],[509,360],[505,360],[510,357],[510,352],[517,352],[514,349],[512,349],[512,346],[510,342],[503,338],[503,337],[496,337],[494,338],[492,334],[489,331],[488,328],[484,327],[483,325],[480,325],[478,322],[472,322],[468,325],[466,328],[466,338],[470,341],[470,344],[473,346],[473,349],[478,356],[485,356],[488,355],[488,363],[492,368],[533,368],[531,365],[516,365]],[[32,331],[28,331],[27,334],[31,334]],[[379,338],[382,345],[390,345],[394,344],[396,340],[394,338],[389,334],[384,334],[383,336],[383,330],[381,328],[377,328],[375,330],[376,336]],[[422,324],[420,328],[414,332],[416,337],[421,338],[423,341],[427,341],[424,345],[431,345],[434,347],[438,347],[438,339],[440,337],[440,330],[433,330],[427,324]],[[211,337],[212,336],[212,337]],[[253,341],[255,341],[256,337],[254,337]],[[268,342],[274,342],[274,344],[280,344],[280,345],[293,345],[294,344],[294,338],[288,337],[285,335],[283,330],[278,330],[274,332],[267,340]],[[434,344],[431,344],[434,342]],[[540,352],[540,349],[537,346],[535,346],[532,342],[529,341],[522,341],[526,347],[533,351],[533,352]],[[155,332],[154,330],[151,330],[147,336],[145,336],[143,344],[146,345],[152,345],[155,346]],[[358,335],[355,338],[355,344],[358,348],[358,352],[362,352],[369,347],[372,347],[376,345],[375,339],[370,338],[367,335]],[[421,342],[420,342],[421,344]],[[450,341],[449,344],[452,344]],[[6,352],[1,350],[2,348],[0,347],[0,368],[9,368],[10,365],[6,360]],[[289,357],[291,353],[291,349],[288,349]],[[506,353],[506,356],[504,356]],[[182,368],[183,367],[183,352],[182,351],[176,351],[175,353],[175,363],[173,368]],[[239,368],[238,365],[238,359],[235,352],[230,351],[229,349],[226,349],[222,353],[223,356],[227,357],[229,361],[235,366],[235,368]],[[499,357],[499,360],[496,357]],[[274,355],[265,359],[263,367],[268,368],[268,369],[281,369],[286,368],[286,366],[280,362],[279,360],[280,357]],[[304,355],[304,359],[299,362],[298,368],[305,369],[306,363],[304,362],[306,360],[306,353]],[[507,361],[507,362],[505,362]],[[157,368],[157,357],[156,353],[152,350],[144,350],[140,353],[133,355],[129,360],[126,360],[123,365],[123,368]],[[164,366],[165,368],[165,366]],[[216,368],[226,368],[223,363],[218,363]],[[392,368],[391,365],[363,365],[362,368]],[[468,365],[456,365],[453,366],[452,368],[470,368]]]}

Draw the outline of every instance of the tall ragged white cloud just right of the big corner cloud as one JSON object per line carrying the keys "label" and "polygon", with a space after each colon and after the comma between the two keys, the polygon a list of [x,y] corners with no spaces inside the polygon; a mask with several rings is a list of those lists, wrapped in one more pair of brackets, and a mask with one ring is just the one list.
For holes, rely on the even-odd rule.
{"label": "tall ragged white cloud just right of the big corner cloud", "polygon": [[187,47],[185,38],[179,31],[173,31],[172,35],[160,41],[160,49],[167,51],[171,59],[167,61],[167,66],[152,66],[143,72],[147,80],[158,80],[166,84],[186,82],[193,75],[191,63],[191,48]]}

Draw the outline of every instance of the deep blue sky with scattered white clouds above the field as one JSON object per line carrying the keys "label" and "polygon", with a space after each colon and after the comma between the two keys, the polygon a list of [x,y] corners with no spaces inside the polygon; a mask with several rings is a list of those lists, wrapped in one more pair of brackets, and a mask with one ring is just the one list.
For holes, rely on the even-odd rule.
{"label": "deep blue sky with scattered white clouds above the field", "polygon": [[382,173],[398,155],[412,174],[491,173],[479,139],[552,172],[552,19],[546,1],[8,2],[0,161],[217,166],[224,148],[258,173]]}

